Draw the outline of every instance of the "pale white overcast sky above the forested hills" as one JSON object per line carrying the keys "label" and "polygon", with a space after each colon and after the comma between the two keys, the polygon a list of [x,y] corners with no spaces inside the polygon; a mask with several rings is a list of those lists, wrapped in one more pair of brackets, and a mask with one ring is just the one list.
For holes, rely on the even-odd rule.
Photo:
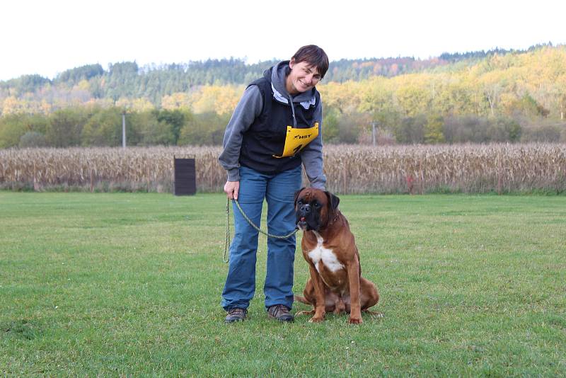
{"label": "pale white overcast sky above the forested hills", "polygon": [[255,63],[311,43],[332,61],[566,42],[564,0],[4,0],[0,14],[0,80],[133,60]]}

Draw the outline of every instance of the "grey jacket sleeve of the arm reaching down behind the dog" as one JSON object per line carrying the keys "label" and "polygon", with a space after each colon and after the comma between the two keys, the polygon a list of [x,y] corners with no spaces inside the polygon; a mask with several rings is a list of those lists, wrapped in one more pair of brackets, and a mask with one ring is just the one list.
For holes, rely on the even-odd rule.
{"label": "grey jacket sleeve of the arm reaching down behind the dog", "polygon": [[318,103],[314,112],[314,119],[318,122],[318,137],[301,151],[301,160],[305,167],[306,176],[312,188],[325,189],[326,176],[323,173],[323,105]]}

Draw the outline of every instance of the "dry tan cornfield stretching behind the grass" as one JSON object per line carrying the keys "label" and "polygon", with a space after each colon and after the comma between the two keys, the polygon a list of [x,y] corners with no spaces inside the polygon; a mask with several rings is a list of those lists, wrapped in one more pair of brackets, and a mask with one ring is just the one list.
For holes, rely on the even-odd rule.
{"label": "dry tan cornfield stretching behind the grass", "polygon": [[[0,150],[0,188],[173,191],[173,156],[194,157],[197,190],[219,192],[221,147]],[[335,193],[566,192],[566,144],[324,148]],[[306,175],[304,183],[306,184]]]}

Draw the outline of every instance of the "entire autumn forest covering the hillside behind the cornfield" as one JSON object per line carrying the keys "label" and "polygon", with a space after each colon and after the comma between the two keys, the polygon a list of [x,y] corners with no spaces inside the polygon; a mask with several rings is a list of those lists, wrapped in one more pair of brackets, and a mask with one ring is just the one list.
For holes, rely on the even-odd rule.
{"label": "entire autumn forest covering the hillside behind the cornfield", "polygon": [[[76,67],[0,81],[0,148],[218,145],[246,84],[277,61]],[[566,46],[342,59],[317,86],[325,143],[566,142]]]}

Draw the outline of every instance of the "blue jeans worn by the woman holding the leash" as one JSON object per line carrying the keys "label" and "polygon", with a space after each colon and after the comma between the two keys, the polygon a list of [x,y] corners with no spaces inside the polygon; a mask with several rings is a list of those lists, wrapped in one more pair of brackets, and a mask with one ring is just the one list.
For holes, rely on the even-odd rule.
{"label": "blue jeans worn by the woman holding the leash", "polygon": [[[301,188],[301,166],[281,173],[260,173],[240,168],[238,202],[254,224],[260,226],[264,198],[267,200],[267,232],[287,235],[295,229],[294,194]],[[221,306],[247,309],[255,293],[255,260],[258,231],[244,219],[236,204],[234,237],[230,246],[230,265],[222,291]],[[295,236],[289,239],[267,238],[267,274],[265,275],[265,307],[274,304],[293,306],[293,263]]]}

